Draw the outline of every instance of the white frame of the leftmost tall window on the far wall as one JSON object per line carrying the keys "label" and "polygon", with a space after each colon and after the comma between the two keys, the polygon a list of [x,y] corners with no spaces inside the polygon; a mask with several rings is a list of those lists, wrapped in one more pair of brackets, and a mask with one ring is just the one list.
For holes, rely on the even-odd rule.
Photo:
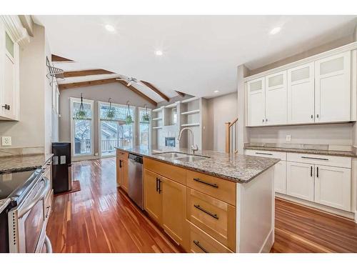
{"label": "white frame of the leftmost tall window on the far wall", "polygon": [[74,111],[74,103],[81,103],[81,98],[69,98],[69,107],[70,107],[70,118],[71,118],[71,154],[72,157],[75,159],[79,158],[86,158],[86,157],[93,157],[95,154],[94,150],[94,101],[91,99],[83,99],[84,104],[89,104],[91,106],[91,152],[88,154],[75,154],[75,144],[74,144],[74,118],[73,118],[73,111]]}

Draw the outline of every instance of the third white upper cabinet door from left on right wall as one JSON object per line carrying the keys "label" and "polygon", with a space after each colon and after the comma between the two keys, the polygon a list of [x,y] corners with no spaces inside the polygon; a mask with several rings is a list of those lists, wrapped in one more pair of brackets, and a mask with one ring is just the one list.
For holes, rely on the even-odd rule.
{"label": "third white upper cabinet door from left on right wall", "polygon": [[315,93],[313,62],[288,69],[288,124],[313,122]]}

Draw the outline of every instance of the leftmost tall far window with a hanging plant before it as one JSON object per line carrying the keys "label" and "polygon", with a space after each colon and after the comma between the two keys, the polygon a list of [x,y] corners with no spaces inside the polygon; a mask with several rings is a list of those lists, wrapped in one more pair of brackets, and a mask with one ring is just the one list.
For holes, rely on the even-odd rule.
{"label": "leftmost tall far window with a hanging plant before it", "polygon": [[71,143],[74,157],[91,155],[93,149],[93,101],[70,98]]}

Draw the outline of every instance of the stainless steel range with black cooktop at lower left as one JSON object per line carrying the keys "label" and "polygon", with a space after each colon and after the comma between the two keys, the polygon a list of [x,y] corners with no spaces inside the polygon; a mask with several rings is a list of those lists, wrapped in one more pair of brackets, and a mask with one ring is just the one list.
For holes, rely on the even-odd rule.
{"label": "stainless steel range with black cooktop at lower left", "polygon": [[43,169],[0,174],[0,252],[51,252],[46,237],[50,192]]}

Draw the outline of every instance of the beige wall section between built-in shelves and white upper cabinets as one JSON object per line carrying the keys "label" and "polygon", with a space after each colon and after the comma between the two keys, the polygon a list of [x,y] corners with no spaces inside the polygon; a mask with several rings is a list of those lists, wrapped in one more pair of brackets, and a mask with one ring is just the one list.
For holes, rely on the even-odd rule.
{"label": "beige wall section between built-in shelves and white upper cabinets", "polygon": [[238,95],[236,92],[208,99],[208,149],[224,152],[226,149],[226,126],[238,116]]}

